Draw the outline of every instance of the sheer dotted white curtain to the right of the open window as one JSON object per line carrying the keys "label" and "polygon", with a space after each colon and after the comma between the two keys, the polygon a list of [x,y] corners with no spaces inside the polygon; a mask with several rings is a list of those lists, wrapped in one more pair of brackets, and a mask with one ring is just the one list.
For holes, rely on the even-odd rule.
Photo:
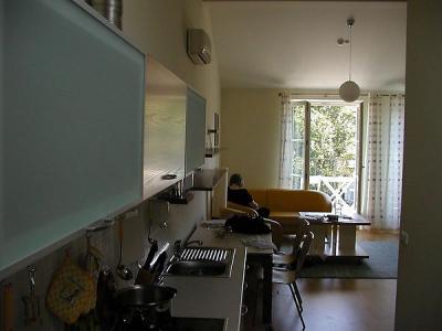
{"label": "sheer dotted white curtain to the right of the open window", "polygon": [[369,102],[362,214],[372,228],[398,229],[401,215],[404,97]]}

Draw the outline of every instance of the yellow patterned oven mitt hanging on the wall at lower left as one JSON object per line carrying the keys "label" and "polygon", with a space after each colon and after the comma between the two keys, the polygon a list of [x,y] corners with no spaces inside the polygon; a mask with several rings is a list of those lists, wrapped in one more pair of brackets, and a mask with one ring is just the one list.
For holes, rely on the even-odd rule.
{"label": "yellow patterned oven mitt hanging on the wall at lower left", "polygon": [[48,309],[67,324],[87,313],[95,301],[91,274],[66,256],[63,266],[55,271],[46,295]]}

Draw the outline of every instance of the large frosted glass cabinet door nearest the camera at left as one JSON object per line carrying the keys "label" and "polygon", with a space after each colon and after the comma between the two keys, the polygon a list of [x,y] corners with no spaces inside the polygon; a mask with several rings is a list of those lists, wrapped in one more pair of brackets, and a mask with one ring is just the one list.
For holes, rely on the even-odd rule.
{"label": "large frosted glass cabinet door nearest the camera at left", "polygon": [[0,271],[141,199],[145,56],[80,2],[1,4]]}

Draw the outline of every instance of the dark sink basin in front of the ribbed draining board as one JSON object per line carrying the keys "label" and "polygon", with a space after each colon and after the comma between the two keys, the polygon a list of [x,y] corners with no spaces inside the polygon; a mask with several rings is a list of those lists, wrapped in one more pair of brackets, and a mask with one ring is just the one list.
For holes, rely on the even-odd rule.
{"label": "dark sink basin in front of the ribbed draining board", "polygon": [[171,264],[168,273],[180,276],[220,276],[228,265],[215,260],[180,260]]}

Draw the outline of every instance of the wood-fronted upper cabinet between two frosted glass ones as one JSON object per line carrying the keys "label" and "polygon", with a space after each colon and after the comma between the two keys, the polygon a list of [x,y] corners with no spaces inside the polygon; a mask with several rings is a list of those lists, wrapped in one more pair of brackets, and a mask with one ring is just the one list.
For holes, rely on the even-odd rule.
{"label": "wood-fronted upper cabinet between two frosted glass ones", "polygon": [[144,199],[185,177],[187,86],[147,56]]}

